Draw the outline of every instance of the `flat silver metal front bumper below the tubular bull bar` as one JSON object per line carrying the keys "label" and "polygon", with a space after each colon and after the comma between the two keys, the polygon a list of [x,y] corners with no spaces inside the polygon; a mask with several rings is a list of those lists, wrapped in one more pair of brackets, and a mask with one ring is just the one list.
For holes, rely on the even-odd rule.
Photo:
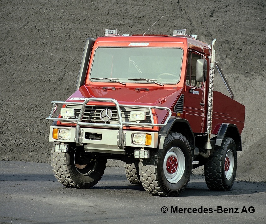
{"label": "flat silver metal front bumper below the tubular bull bar", "polygon": [[[58,140],[53,139],[53,129],[54,128],[63,128],[69,129],[71,131],[71,137],[69,140]],[[100,140],[87,139],[85,138],[86,133],[97,133],[101,134]],[[132,143],[132,134],[133,133],[146,133],[151,135],[151,144],[150,145],[135,145]],[[95,128],[80,128],[79,129],[79,142],[84,146],[85,152],[103,152],[103,153],[113,153],[113,154],[125,154],[125,147],[145,147],[145,148],[157,148],[158,146],[158,132],[143,132],[143,131],[131,131],[123,130],[122,131],[122,146],[119,148],[119,130],[112,129],[95,129]],[[51,126],[49,134],[49,142],[76,142],[76,128],[75,127],[60,127],[60,126]]]}

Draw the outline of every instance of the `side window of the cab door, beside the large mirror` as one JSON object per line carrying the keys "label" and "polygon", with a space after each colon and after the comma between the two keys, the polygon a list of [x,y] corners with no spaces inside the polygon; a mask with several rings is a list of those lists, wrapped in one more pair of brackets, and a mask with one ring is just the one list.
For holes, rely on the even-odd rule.
{"label": "side window of the cab door, beside the large mirror", "polygon": [[198,59],[201,59],[202,56],[195,54],[193,52],[188,53],[187,58],[187,70],[186,70],[186,85],[198,87],[201,85],[200,82],[196,80],[196,63]]}

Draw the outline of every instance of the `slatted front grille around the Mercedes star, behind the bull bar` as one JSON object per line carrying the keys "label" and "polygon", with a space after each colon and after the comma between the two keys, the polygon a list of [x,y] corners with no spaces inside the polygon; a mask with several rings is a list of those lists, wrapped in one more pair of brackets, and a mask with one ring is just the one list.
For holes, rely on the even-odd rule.
{"label": "slatted front grille around the Mercedes star, behind the bull bar", "polygon": [[[80,116],[81,106],[70,106],[67,105],[68,108],[74,108],[74,118],[77,119]],[[100,113],[103,109],[109,109],[112,111],[112,118],[109,121],[103,121],[100,118]],[[146,113],[146,119],[144,121],[140,121],[141,123],[151,123],[149,109],[148,108],[124,108],[121,107],[121,115],[123,122],[137,122],[135,120],[130,120],[130,111],[143,111]],[[117,110],[115,106],[89,106],[87,105],[82,117],[82,122],[89,123],[101,123],[101,124],[118,124]],[[70,122],[64,122],[70,123]]]}

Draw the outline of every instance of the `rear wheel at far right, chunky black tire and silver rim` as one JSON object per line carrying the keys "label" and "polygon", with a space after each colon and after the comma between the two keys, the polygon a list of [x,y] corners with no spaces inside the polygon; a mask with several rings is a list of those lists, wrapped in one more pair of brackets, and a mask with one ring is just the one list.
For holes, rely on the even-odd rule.
{"label": "rear wheel at far right, chunky black tire and silver rim", "polygon": [[[231,167],[229,166],[229,170],[226,171],[228,167],[226,167],[225,162],[228,155],[231,155]],[[236,178],[236,168],[236,144],[232,138],[225,137],[222,145],[215,147],[213,156],[210,156],[204,165],[205,181],[208,188],[219,191],[230,190]]]}

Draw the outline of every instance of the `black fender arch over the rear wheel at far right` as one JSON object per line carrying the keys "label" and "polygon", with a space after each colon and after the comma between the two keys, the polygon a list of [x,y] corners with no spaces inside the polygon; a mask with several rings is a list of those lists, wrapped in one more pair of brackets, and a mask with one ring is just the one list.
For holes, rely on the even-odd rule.
{"label": "black fender arch over the rear wheel at far right", "polygon": [[[216,134],[216,133],[213,133]],[[242,151],[242,140],[239,130],[235,124],[222,123],[216,137],[215,145],[221,146],[224,137],[230,137],[236,144],[236,150]]]}

